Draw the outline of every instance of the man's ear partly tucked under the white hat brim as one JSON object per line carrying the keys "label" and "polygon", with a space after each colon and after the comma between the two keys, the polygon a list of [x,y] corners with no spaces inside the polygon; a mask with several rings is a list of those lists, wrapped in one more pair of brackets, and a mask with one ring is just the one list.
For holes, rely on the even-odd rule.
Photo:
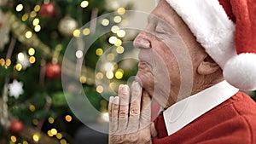
{"label": "man's ear partly tucked under the white hat brim", "polygon": [[218,64],[212,60],[209,55],[207,55],[207,57],[201,61],[200,65],[197,67],[197,72],[201,75],[208,75],[217,72],[219,68]]}

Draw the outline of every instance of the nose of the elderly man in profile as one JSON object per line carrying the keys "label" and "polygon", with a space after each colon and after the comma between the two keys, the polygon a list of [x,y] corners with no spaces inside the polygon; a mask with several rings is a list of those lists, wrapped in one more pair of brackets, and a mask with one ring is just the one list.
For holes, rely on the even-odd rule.
{"label": "nose of the elderly man in profile", "polygon": [[150,37],[147,32],[140,32],[135,38],[133,45],[138,49],[150,49]]}

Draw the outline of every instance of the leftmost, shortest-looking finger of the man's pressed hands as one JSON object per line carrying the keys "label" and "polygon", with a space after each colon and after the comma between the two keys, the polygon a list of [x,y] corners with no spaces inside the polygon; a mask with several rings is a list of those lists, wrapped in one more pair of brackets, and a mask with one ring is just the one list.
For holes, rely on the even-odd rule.
{"label": "leftmost, shortest-looking finger of the man's pressed hands", "polygon": [[112,135],[116,133],[118,129],[118,124],[119,124],[119,96],[116,96],[113,98],[111,102],[111,121],[109,122],[109,134]]}

